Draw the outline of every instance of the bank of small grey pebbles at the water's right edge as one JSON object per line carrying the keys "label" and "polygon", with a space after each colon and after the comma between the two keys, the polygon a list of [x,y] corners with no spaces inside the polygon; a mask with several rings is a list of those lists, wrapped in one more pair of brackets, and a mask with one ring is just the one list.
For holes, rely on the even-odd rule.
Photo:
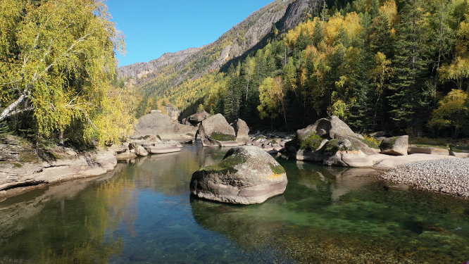
{"label": "bank of small grey pebbles at the water's right edge", "polygon": [[418,189],[469,197],[469,158],[406,163],[384,172],[381,177]]}

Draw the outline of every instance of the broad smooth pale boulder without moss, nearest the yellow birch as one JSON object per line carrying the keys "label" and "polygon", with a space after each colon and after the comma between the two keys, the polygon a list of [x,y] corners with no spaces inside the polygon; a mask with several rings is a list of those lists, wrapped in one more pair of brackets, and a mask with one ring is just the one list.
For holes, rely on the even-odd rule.
{"label": "broad smooth pale boulder without moss, nearest the yellow birch", "polygon": [[161,139],[189,140],[194,139],[196,127],[181,125],[173,122],[168,115],[162,113],[150,113],[139,118],[135,125],[135,133],[132,137],[145,137],[158,135]]}

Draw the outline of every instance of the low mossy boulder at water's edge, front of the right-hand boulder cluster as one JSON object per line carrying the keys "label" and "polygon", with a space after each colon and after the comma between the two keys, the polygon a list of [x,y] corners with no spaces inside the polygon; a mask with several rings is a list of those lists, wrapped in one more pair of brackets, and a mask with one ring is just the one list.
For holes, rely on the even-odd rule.
{"label": "low mossy boulder at water's edge, front of the right-hand boulder cluster", "polygon": [[374,162],[349,139],[332,139],[324,146],[323,164],[352,168],[373,167]]}

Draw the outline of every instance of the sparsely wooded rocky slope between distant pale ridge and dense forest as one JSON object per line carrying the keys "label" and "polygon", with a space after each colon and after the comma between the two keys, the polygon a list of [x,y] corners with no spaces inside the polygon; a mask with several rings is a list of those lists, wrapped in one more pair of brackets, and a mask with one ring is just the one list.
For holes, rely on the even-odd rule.
{"label": "sparsely wooded rocky slope between distant pale ridge and dense forest", "polygon": [[[163,98],[169,99],[187,113],[196,111],[209,92],[211,84],[207,82],[211,82],[209,80],[212,77],[208,75],[237,61],[246,52],[265,46],[269,39],[275,37],[275,25],[288,30],[303,22],[308,12],[317,10],[318,3],[319,0],[273,1],[183,61],[169,63],[137,79],[137,87],[144,95],[139,115],[156,108],[156,104],[161,103]],[[194,83],[203,84],[195,87]]]}

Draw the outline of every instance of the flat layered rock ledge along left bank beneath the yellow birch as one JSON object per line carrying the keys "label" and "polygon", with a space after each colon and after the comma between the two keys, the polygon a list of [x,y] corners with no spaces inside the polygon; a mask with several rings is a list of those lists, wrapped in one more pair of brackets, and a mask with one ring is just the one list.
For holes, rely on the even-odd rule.
{"label": "flat layered rock ledge along left bank beneath the yellow birch", "polygon": [[0,144],[0,199],[47,184],[104,175],[117,158],[105,149],[81,151],[61,146],[35,149],[30,142],[7,136]]}

